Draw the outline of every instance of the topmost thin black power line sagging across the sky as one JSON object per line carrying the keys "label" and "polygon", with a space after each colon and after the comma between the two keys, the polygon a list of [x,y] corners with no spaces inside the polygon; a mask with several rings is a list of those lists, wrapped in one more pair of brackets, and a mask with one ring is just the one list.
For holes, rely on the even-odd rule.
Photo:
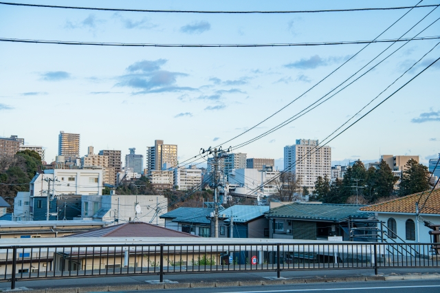
{"label": "topmost thin black power line sagging across the sky", "polygon": [[[385,8],[352,8],[352,9],[326,9],[326,10],[249,10],[249,11],[227,11],[227,10],[143,10],[126,8],[91,8],[78,6],[54,6],[27,3],[0,2],[9,6],[28,6],[38,8],[65,8],[76,10],[100,10],[100,11],[120,11],[120,12],[162,12],[162,13],[207,13],[207,14],[287,14],[287,13],[317,13],[317,12],[354,12],[354,11],[372,11],[372,10],[401,10],[412,9],[412,6],[385,7]],[[436,5],[417,6],[417,8],[433,7]]]}

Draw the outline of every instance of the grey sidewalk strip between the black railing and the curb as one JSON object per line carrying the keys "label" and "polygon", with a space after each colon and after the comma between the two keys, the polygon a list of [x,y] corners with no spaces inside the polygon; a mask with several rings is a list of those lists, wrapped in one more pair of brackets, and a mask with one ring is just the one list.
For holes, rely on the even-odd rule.
{"label": "grey sidewalk strip between the black railing and the curb", "polygon": [[[439,279],[440,268],[380,269],[375,276],[373,269],[364,270],[306,270],[283,271],[281,279],[276,272],[233,272],[213,274],[166,274],[164,279],[171,282],[146,283],[158,281],[159,276],[105,276],[81,279],[32,280],[16,283],[19,287],[33,289],[32,293],[77,293],[108,292],[131,290],[156,290],[164,288],[188,287],[233,287],[254,285],[283,285],[292,283],[350,282],[350,281],[388,281],[402,279]],[[177,283],[176,283],[177,282]],[[10,283],[0,283],[0,291],[8,290]]]}

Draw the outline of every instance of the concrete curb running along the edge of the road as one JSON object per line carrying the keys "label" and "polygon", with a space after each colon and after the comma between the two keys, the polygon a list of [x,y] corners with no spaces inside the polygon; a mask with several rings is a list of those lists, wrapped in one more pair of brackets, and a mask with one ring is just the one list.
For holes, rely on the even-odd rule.
{"label": "concrete curb running along the edge of the road", "polygon": [[[200,282],[200,283],[157,283],[137,285],[107,285],[107,286],[85,286],[85,287],[58,287],[47,289],[28,289],[15,292],[32,293],[84,293],[84,292],[121,292],[137,290],[158,290],[177,288],[208,288],[208,287],[238,287],[238,286],[260,286],[260,285],[291,285],[304,283],[347,283],[365,281],[401,281],[440,279],[440,274],[405,274],[393,276],[347,276],[347,277],[317,277],[317,278],[296,278],[296,279],[274,279],[274,280],[249,280],[249,281],[225,281],[225,282]],[[1,291],[0,291],[1,292]]]}

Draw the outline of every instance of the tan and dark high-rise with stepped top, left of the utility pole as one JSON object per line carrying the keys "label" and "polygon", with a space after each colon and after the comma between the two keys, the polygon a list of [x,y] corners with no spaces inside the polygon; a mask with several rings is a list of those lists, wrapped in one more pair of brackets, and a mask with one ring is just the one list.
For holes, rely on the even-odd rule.
{"label": "tan and dark high-rise with stepped top, left of the utility pole", "polygon": [[146,148],[146,169],[161,171],[163,167],[177,167],[177,144],[164,144],[163,140],[155,140],[154,146]]}

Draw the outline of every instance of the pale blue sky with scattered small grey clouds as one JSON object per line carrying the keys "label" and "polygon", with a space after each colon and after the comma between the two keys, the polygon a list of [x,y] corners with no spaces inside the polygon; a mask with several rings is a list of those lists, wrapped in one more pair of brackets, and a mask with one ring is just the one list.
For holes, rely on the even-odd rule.
{"label": "pale blue sky with scattered small grey clouds", "polygon": [[[417,2],[89,0],[63,1],[62,5],[159,10],[323,10],[414,6]],[[61,5],[43,0],[22,3]],[[420,5],[429,4],[437,3],[426,0]],[[440,8],[426,17],[432,9],[412,10],[379,39],[412,38],[428,25],[419,36],[439,35],[440,21],[433,22],[440,17]],[[0,5],[0,38],[168,44],[366,41],[375,39],[407,11],[171,14]],[[207,48],[0,42],[0,136],[19,135],[25,138],[25,144],[44,146],[48,162],[57,155],[59,131],[80,133],[81,155],[87,154],[87,146],[94,146],[97,151],[122,150],[123,156],[135,147],[136,153],[145,155],[146,147],[152,146],[154,140],[164,140],[165,144],[178,145],[179,162],[183,162],[198,155],[201,148],[222,144],[227,149],[261,135],[338,87],[388,46],[391,45],[353,78],[405,44],[316,109],[234,149],[247,153],[248,158],[274,158],[278,169],[283,169],[284,146],[295,144],[300,138],[324,140],[439,41],[371,44],[316,87],[366,45]],[[354,119],[439,55],[440,45]],[[358,159],[377,161],[381,154],[419,155],[423,164],[429,158],[437,158],[439,76],[440,61],[329,142],[333,164]],[[314,88],[301,96],[311,87]],[[283,107],[258,127],[223,144]],[[203,166],[203,160],[200,162]]]}

